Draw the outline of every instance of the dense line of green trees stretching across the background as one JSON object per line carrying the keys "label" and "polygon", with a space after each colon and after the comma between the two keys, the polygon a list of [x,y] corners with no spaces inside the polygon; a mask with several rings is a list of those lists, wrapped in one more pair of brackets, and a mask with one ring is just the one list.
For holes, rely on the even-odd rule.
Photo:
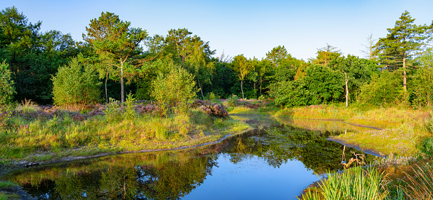
{"label": "dense line of green trees stretching across the background", "polygon": [[[432,25],[402,13],[388,35],[370,38],[368,58],[327,45],[309,60],[278,46],[259,60],[216,55],[187,28],[148,35],[114,13],[90,20],[83,42],[58,30],[42,33],[16,7],[0,12],[0,104],[96,104],[109,99],[188,99],[241,96],[280,106],[405,104],[432,106]],[[174,100],[173,100],[174,101]]]}

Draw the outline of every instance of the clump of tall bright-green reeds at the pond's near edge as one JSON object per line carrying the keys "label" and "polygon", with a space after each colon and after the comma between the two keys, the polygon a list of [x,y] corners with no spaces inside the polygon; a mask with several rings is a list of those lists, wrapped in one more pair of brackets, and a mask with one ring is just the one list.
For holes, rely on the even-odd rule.
{"label": "clump of tall bright-green reeds at the pond's near edge", "polygon": [[388,190],[383,182],[383,173],[370,167],[363,170],[353,167],[339,173],[327,173],[327,179],[320,179],[318,189],[309,189],[302,199],[385,199]]}

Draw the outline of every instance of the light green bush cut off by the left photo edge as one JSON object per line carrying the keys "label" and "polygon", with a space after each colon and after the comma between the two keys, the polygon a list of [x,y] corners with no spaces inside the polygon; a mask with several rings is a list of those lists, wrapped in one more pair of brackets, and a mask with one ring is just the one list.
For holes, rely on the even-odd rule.
{"label": "light green bush cut off by the left photo edge", "polygon": [[2,62],[0,64],[0,106],[10,104],[15,93],[9,65],[6,62]]}

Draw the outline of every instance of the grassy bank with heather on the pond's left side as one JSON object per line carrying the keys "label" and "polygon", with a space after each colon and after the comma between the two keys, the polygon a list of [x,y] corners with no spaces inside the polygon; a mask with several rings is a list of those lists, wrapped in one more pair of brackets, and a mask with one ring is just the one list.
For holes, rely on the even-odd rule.
{"label": "grassy bank with heather on the pond's left side", "polygon": [[[118,114],[116,116],[116,114]],[[69,115],[53,118],[14,116],[0,130],[0,158],[49,161],[104,152],[170,149],[219,140],[251,127],[234,118],[212,118],[199,110],[166,118],[121,113],[77,121]]]}

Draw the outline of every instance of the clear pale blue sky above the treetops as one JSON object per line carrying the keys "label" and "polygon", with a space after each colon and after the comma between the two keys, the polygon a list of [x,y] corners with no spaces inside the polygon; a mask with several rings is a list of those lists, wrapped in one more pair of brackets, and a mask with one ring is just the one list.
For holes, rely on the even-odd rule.
{"label": "clear pale blue sky above the treetops", "polygon": [[433,20],[430,0],[341,1],[146,1],[1,0],[0,9],[16,6],[32,23],[42,21],[42,31],[60,30],[82,40],[92,18],[104,11],[119,15],[149,35],[167,35],[172,28],[187,28],[209,41],[215,56],[243,54],[265,57],[284,45],[293,57],[307,60],[318,48],[332,45],[345,55],[364,57],[367,37],[385,37],[386,28],[407,10],[416,24]]}

